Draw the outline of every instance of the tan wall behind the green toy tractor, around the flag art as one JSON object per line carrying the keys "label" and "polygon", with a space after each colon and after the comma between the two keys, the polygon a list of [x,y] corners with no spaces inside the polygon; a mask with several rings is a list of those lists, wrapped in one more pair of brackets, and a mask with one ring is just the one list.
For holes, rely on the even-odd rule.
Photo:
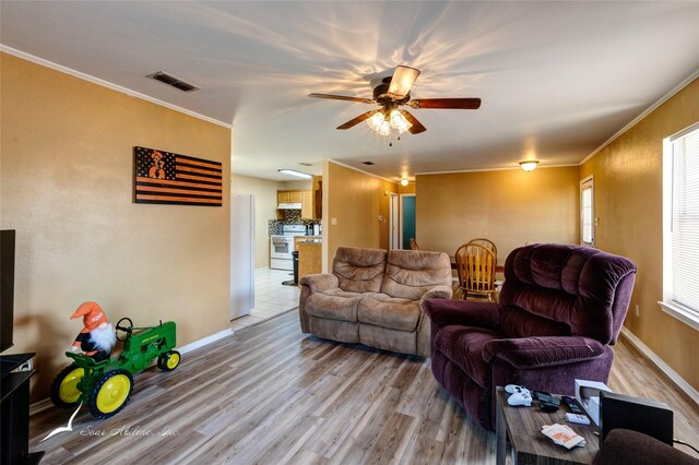
{"label": "tan wall behind the green toy tractor, around the flag art", "polygon": [[[85,300],[116,323],[229,326],[230,130],[1,53],[1,227],[16,229],[15,346],[48,395]],[[132,202],[133,146],[223,163],[223,207]]]}

